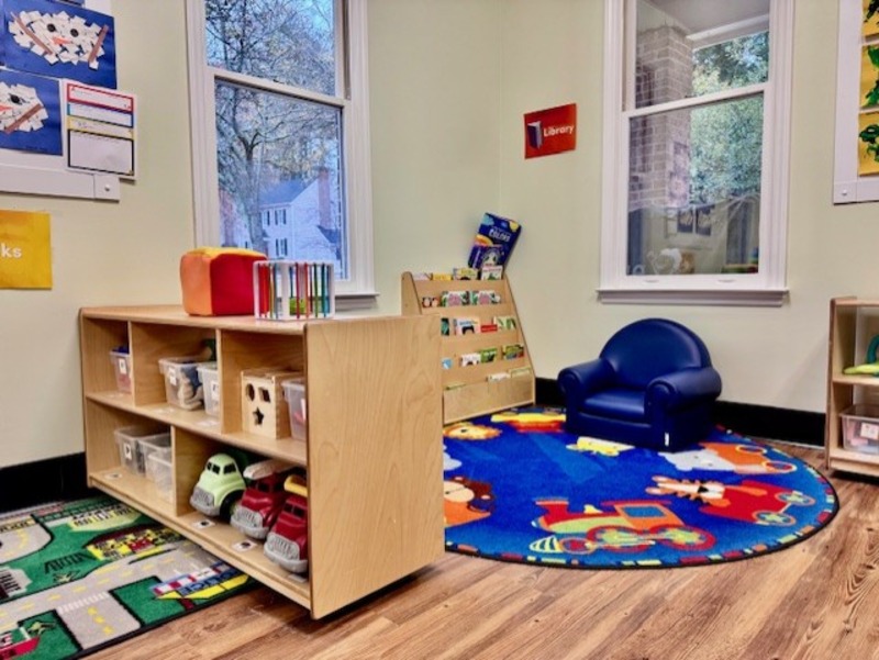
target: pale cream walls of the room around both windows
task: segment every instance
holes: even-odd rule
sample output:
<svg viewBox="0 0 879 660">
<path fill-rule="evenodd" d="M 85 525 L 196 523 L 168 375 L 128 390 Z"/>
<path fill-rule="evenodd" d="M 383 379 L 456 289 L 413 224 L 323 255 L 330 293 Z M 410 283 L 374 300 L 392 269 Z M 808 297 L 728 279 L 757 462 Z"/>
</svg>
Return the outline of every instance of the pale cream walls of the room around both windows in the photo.
<svg viewBox="0 0 879 660">
<path fill-rule="evenodd" d="M 704 337 L 724 400 L 822 411 L 827 301 L 877 295 L 879 243 L 877 204 L 831 204 L 836 3 L 797 0 L 791 297 L 780 309 L 596 301 L 602 4 L 369 0 L 379 311 L 399 312 L 401 271 L 463 264 L 482 212 L 496 211 L 525 227 L 510 276 L 537 376 L 664 315 Z M 192 245 L 182 3 L 113 9 L 120 86 L 141 99 L 142 174 L 118 204 L 0 194 L 0 208 L 52 214 L 55 269 L 53 291 L 0 291 L 0 467 L 82 450 L 80 306 L 179 300 L 177 264 Z M 569 102 L 577 150 L 525 161 L 522 114 Z"/>
</svg>

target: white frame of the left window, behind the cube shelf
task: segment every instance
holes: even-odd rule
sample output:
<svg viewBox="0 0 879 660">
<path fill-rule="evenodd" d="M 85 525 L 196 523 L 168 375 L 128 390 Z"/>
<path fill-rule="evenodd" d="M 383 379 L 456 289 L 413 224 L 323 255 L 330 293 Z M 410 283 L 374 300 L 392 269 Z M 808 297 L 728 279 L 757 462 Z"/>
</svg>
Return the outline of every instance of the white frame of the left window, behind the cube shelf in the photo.
<svg viewBox="0 0 879 660">
<path fill-rule="evenodd" d="M 349 57 L 337 54 L 337 80 L 345 80 L 346 89 L 338 97 L 302 91 L 303 98 L 320 100 L 343 108 L 343 178 L 345 209 L 348 222 L 348 280 L 335 283 L 336 309 L 343 311 L 371 303 L 376 295 L 372 245 L 372 182 L 369 145 L 369 87 L 367 59 L 366 2 L 335 0 L 345 3 L 345 11 L 336 11 L 341 26 L 346 31 Z M 254 85 L 254 79 L 222 71 L 204 61 L 204 1 L 187 0 L 187 32 L 189 59 L 190 127 L 192 131 L 192 201 L 194 209 L 194 240 L 197 246 L 219 245 L 220 216 L 216 132 L 214 127 L 214 81 L 241 79 Z M 342 22 L 344 21 L 344 24 Z M 257 87 L 270 89 L 265 80 Z"/>
</svg>

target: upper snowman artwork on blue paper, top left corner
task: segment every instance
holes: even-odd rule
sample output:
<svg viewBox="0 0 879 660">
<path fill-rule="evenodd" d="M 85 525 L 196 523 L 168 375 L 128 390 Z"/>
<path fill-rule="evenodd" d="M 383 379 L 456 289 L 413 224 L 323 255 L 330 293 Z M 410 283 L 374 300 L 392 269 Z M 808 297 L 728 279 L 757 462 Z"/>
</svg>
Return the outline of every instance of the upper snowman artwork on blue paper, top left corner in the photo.
<svg viewBox="0 0 879 660">
<path fill-rule="evenodd" d="M 113 18 L 49 0 L 0 0 L 0 64 L 9 69 L 116 87 Z"/>
</svg>

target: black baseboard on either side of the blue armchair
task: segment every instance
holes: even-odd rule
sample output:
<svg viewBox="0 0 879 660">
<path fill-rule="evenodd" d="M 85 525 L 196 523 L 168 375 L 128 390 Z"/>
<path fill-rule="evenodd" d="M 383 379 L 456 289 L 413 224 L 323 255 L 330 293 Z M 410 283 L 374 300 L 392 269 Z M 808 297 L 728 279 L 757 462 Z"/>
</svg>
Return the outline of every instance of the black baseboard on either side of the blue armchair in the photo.
<svg viewBox="0 0 879 660">
<path fill-rule="evenodd" d="M 552 378 L 536 379 L 537 401 L 543 405 L 564 405 L 558 383 Z M 824 445 L 824 413 L 719 401 L 714 404 L 714 421 L 744 436 L 771 438 L 822 447 Z"/>
</svg>

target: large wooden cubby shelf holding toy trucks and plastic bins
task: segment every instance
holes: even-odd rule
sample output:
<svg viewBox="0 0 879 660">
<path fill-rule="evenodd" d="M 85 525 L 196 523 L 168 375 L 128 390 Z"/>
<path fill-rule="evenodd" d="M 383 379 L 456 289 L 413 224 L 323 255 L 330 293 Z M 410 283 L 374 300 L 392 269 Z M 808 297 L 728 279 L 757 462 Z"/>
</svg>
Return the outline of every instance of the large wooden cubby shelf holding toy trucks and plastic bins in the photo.
<svg viewBox="0 0 879 660">
<path fill-rule="evenodd" d="M 166 401 L 158 359 L 216 345 L 219 416 Z M 110 351 L 127 345 L 131 393 Z M 80 312 L 88 480 L 192 539 L 321 618 L 436 560 L 444 550 L 439 327 L 416 316 L 274 322 L 189 316 L 178 306 Z M 307 439 L 243 430 L 241 372 L 282 366 L 305 374 Z M 114 429 L 171 432 L 173 502 L 125 470 Z M 234 447 L 307 468 L 309 572 L 288 573 L 262 544 L 192 508 L 205 460 Z"/>
</svg>

